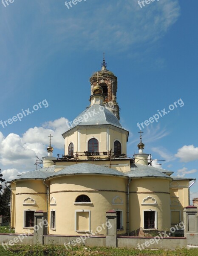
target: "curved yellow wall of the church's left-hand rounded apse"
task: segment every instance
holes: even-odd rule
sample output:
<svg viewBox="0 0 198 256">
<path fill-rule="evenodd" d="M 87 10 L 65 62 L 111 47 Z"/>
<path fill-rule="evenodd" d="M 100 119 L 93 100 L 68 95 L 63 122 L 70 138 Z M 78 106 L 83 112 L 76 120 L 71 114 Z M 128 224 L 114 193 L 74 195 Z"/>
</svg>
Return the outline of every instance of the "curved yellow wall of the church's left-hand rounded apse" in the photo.
<svg viewBox="0 0 198 256">
<path fill-rule="evenodd" d="M 24 228 L 25 210 L 47 211 L 46 187 L 41 180 L 23 180 L 17 181 L 16 184 L 15 211 L 17 214 L 15 231 L 16 233 L 33 233 L 34 228 Z"/>
</svg>

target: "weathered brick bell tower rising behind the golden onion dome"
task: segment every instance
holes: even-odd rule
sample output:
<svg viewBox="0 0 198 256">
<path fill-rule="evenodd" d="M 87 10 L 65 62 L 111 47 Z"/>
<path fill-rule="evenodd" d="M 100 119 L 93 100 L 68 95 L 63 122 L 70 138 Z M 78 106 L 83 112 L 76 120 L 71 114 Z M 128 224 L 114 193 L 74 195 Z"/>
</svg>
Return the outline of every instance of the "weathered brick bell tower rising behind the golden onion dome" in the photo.
<svg viewBox="0 0 198 256">
<path fill-rule="evenodd" d="M 104 105 L 108 108 L 118 119 L 119 117 L 119 105 L 116 101 L 117 93 L 117 77 L 112 72 L 107 70 L 107 63 L 105 62 L 105 55 L 103 62 L 101 63 L 102 70 L 95 72 L 90 78 L 91 82 L 91 95 L 93 94 L 93 87 L 98 83 L 102 86 L 104 96 Z"/>
</svg>

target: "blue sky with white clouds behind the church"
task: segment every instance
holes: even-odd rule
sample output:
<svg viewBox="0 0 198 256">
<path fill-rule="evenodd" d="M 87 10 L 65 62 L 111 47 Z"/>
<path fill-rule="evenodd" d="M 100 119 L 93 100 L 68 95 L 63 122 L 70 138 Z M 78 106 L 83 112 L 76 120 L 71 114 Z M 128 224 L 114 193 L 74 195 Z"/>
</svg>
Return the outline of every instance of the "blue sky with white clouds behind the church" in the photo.
<svg viewBox="0 0 198 256">
<path fill-rule="evenodd" d="M 143 8 L 137 0 L 82 0 L 70 9 L 63 0 L 0 4 L 0 120 L 48 102 L 21 122 L 0 125 L 4 177 L 35 169 L 50 132 L 54 156 L 63 152 L 65 120 L 89 105 L 89 78 L 105 52 L 118 77 L 121 123 L 130 131 L 127 154 L 137 151 L 137 122 L 182 99 L 183 107 L 142 129 L 144 151 L 166 160 L 158 163 L 175 175 L 198 178 L 197 13 L 197 0 Z M 198 180 L 191 192 L 198 197 Z"/>
</svg>

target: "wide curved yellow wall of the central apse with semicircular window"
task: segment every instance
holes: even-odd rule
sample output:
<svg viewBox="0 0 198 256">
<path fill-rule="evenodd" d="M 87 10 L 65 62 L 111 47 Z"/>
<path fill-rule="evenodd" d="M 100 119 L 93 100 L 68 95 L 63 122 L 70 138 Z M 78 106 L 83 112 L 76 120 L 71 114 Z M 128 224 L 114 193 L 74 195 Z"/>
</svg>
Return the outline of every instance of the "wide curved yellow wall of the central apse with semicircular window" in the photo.
<svg viewBox="0 0 198 256">
<path fill-rule="evenodd" d="M 50 211 L 56 210 L 56 230 L 50 229 L 50 234 L 82 234 L 82 232 L 75 231 L 75 210 L 90 211 L 91 230 L 96 232 L 97 227 L 105 224 L 105 215 L 110 209 L 123 211 L 124 229 L 118 233 L 125 233 L 126 184 L 127 179 L 99 175 L 66 176 L 52 179 L 50 198 L 55 198 L 56 205 L 50 205 Z M 79 195 L 88 195 L 92 204 L 74 204 Z M 105 228 L 98 233 L 105 235 Z"/>
</svg>

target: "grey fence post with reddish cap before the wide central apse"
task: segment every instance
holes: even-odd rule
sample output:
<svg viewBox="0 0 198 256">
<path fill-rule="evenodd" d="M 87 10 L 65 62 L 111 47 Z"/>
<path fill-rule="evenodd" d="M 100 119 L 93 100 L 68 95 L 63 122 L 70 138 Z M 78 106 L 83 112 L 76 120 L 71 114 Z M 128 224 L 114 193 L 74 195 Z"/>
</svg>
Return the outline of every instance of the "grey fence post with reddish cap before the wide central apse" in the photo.
<svg viewBox="0 0 198 256">
<path fill-rule="evenodd" d="M 117 212 L 106 212 L 106 246 L 117 247 Z"/>
</svg>

